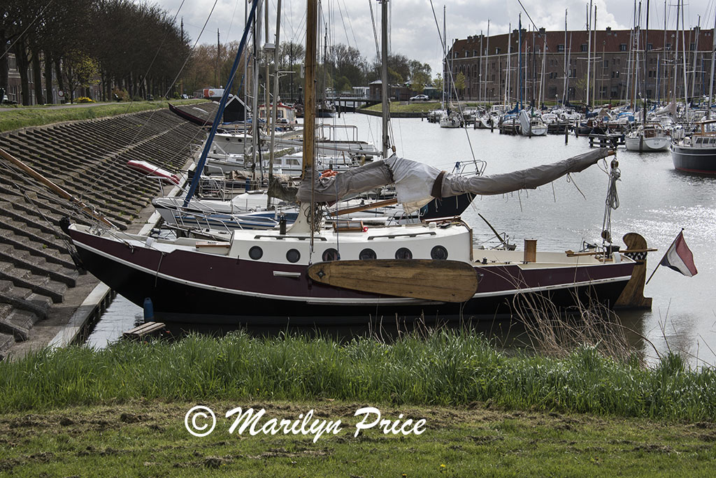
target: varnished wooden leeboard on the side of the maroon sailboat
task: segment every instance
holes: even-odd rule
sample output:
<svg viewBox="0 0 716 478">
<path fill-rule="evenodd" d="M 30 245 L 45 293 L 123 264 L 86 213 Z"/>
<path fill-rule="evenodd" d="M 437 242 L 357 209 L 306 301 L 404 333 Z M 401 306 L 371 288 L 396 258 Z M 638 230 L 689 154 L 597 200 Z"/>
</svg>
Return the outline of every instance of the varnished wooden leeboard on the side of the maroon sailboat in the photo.
<svg viewBox="0 0 716 478">
<path fill-rule="evenodd" d="M 334 260 L 311 265 L 309 277 L 353 291 L 441 302 L 465 302 L 478 291 L 475 268 L 457 260 Z"/>
</svg>

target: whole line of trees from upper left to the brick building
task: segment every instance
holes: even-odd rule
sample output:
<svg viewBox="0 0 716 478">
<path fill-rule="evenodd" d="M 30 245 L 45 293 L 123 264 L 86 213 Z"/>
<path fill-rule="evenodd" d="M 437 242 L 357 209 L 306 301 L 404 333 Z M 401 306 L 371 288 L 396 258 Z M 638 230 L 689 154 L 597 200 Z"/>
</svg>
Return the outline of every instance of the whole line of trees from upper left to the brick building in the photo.
<svg viewBox="0 0 716 478">
<path fill-rule="evenodd" d="M 203 44 L 192 52 L 177 19 L 158 5 L 133 0 L 4 0 L 0 49 L 0 88 L 9 85 L 10 52 L 20 74 L 22 104 L 30 104 L 32 88 L 35 101 L 43 104 L 52 102 L 53 82 L 70 101 L 75 90 L 92 84 L 99 85 L 102 100 L 117 99 L 115 95 L 173 97 L 181 91 L 191 94 L 219 87 L 227 82 L 238 42 Z M 369 62 L 354 47 L 336 44 L 324 52 L 319 59 L 319 92 L 346 92 L 380 78 L 379 59 Z M 276 66 L 273 54 L 259 52 L 260 84 L 269 62 L 271 74 L 282 72 L 280 96 L 301 97 L 304 53 L 302 44 L 281 43 Z M 391 84 L 410 84 L 422 92 L 434 82 L 428 64 L 402 54 L 390 55 L 388 63 Z M 234 92 L 248 83 L 243 68 L 238 74 Z M 42 77 L 52 81 L 43 84 Z"/>
</svg>

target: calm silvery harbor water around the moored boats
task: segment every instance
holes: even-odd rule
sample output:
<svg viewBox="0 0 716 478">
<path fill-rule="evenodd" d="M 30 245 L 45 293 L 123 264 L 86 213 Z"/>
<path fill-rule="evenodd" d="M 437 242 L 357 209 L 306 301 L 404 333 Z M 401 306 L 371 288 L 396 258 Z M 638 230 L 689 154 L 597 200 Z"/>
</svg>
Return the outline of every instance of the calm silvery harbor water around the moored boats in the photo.
<svg viewBox="0 0 716 478">
<path fill-rule="evenodd" d="M 326 121 L 357 125 L 361 139 L 380 143 L 379 117 L 343 114 Z M 487 175 L 555 162 L 589 150 L 588 140 L 574 135 L 565 145 L 563 136 L 527 138 L 499 135 L 496 130 L 452 130 L 420 119 L 393 120 L 392 137 L 399 155 L 448 171 L 455 162 L 472 160 L 471 144 L 475 157 L 488 163 Z M 611 214 L 615 243 L 634 231 L 643 235 L 650 247 L 659 248 L 658 253 L 649 255 L 647 273 L 651 273 L 684 228 L 699 270 L 687 278 L 659 268 L 645 292 L 654 298 L 652 311 L 629 311 L 620 316 L 659 353 L 671 348 L 690 357 L 692 364 L 716 364 L 716 177 L 677 172 L 669 152 L 639 154 L 621 147 L 616 158 L 621 181 L 617 186 L 619 208 Z M 561 178 L 538 190 L 478 197 L 463 218 L 475 228 L 476 238 L 486 240 L 491 235 L 478 217 L 481 213 L 498 231 L 508 233 L 518 248 L 524 238 L 536 238 L 541 250 L 579 250 L 583 240 L 601 242 L 607 180 L 604 168 L 593 166 L 572 175 L 571 180 Z M 118 296 L 89 337 L 89 344 L 105 346 L 116 340 L 141 312 Z M 652 346 L 643 347 L 647 357 L 656 356 Z"/>
</svg>

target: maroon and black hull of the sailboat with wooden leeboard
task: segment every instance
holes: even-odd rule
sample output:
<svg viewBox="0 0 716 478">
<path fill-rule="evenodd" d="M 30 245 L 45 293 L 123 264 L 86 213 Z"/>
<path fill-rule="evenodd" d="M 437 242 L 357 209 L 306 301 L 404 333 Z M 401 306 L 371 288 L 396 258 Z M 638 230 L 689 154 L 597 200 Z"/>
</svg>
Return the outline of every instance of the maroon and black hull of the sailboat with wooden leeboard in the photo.
<svg viewBox="0 0 716 478">
<path fill-rule="evenodd" d="M 161 255 L 155 250 L 129 248 L 74 231 L 71 235 L 87 270 L 138 306 L 151 298 L 155 320 L 167 323 L 338 326 L 380 318 L 483 320 L 509 316 L 516 298 L 524 298 L 526 303 L 548 298 L 561 309 L 590 301 L 609 306 L 626 286 L 633 268 L 633 263 L 624 263 L 606 268 L 598 265 L 591 270 L 566 267 L 516 275 L 516 265 L 476 267 L 480 274 L 478 296 L 466 303 L 438 303 L 372 296 L 311 283 L 305 266 L 291 266 L 301 271 L 300 278 L 274 278 L 276 265 L 270 263 L 189 252 Z M 96 249 L 84 247 L 81 241 L 85 240 Z M 185 272 L 178 273 L 180 269 Z M 507 275 L 511 278 L 505 279 Z M 579 277 L 581 285 L 570 285 L 568 277 Z M 543 290 L 524 292 L 515 288 L 516 280 L 524 281 L 531 290 Z M 480 296 L 480 288 L 484 296 Z"/>
</svg>

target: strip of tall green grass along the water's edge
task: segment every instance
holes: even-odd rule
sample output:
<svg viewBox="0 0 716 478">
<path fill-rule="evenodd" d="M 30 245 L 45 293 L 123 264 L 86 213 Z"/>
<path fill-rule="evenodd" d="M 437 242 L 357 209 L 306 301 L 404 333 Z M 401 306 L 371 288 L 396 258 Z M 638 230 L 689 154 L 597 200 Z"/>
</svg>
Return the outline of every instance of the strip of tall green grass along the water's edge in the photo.
<svg viewBox="0 0 716 478">
<path fill-rule="evenodd" d="M 104 350 L 45 350 L 0 363 L 0 411 L 135 399 L 337 399 L 715 421 L 716 371 L 669 355 L 654 369 L 581 348 L 562 359 L 506 356 L 482 336 L 440 331 L 387 344 L 369 338 L 189 336 Z"/>
</svg>

